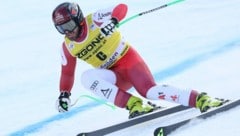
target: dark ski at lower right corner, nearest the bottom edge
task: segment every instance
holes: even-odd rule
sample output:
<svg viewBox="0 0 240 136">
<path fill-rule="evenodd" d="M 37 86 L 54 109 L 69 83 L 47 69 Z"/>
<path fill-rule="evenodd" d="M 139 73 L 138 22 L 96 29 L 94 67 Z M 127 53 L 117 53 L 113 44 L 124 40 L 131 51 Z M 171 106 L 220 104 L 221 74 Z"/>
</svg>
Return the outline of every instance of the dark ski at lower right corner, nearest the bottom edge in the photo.
<svg viewBox="0 0 240 136">
<path fill-rule="evenodd" d="M 156 128 L 154 130 L 154 136 L 167 136 L 170 133 L 172 133 L 173 131 L 175 131 L 176 129 L 180 128 L 181 126 L 184 126 L 185 124 L 189 123 L 192 120 L 195 119 L 206 119 L 208 117 L 211 117 L 213 115 L 216 115 L 218 113 L 230 110 L 236 106 L 240 105 L 240 99 L 238 100 L 234 100 L 234 101 L 229 101 L 227 103 L 225 103 L 224 105 L 217 107 L 217 108 L 212 108 L 207 112 L 204 112 L 200 115 L 194 116 L 192 118 L 171 124 L 171 125 L 167 125 L 167 126 L 162 126 L 159 128 Z"/>
</svg>

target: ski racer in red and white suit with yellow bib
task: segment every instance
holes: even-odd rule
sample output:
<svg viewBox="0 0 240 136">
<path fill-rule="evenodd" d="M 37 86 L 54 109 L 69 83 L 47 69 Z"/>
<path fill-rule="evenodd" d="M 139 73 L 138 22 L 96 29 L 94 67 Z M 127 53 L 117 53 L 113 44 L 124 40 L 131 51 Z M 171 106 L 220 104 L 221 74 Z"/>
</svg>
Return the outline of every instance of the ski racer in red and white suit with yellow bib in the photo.
<svg viewBox="0 0 240 136">
<path fill-rule="evenodd" d="M 181 89 L 171 85 L 158 85 L 138 52 L 117 29 L 128 11 L 126 4 L 101 9 L 84 17 L 76 3 L 58 5 L 52 20 L 63 35 L 61 48 L 62 70 L 56 107 L 66 112 L 71 105 L 76 61 L 80 59 L 93 66 L 82 73 L 82 85 L 92 93 L 129 110 L 129 118 L 151 112 L 152 106 L 128 92 L 131 87 L 146 99 L 166 100 L 199 108 L 202 112 L 222 105 L 222 101 L 206 93 Z"/>
</svg>

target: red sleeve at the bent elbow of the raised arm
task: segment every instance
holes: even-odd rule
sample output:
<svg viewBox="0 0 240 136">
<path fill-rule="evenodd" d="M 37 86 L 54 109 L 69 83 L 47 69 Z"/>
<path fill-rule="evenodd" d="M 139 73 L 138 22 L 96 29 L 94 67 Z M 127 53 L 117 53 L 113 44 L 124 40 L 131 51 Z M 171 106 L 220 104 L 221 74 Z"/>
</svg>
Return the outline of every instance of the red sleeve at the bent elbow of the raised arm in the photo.
<svg viewBox="0 0 240 136">
<path fill-rule="evenodd" d="M 126 4 L 118 4 L 112 12 L 112 17 L 121 21 L 127 15 L 128 7 Z"/>
</svg>

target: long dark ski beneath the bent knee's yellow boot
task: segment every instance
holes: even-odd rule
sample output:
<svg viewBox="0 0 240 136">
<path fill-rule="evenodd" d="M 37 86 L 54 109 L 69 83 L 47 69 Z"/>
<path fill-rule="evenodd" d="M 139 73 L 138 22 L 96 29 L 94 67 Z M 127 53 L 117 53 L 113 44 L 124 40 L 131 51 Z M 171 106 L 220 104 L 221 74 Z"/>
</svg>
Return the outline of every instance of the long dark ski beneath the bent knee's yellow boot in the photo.
<svg viewBox="0 0 240 136">
<path fill-rule="evenodd" d="M 187 109 L 190 109 L 190 107 L 177 105 L 177 106 L 174 106 L 171 108 L 166 108 L 164 110 L 159 110 L 159 111 L 157 110 L 157 111 L 154 111 L 151 113 L 147 113 L 147 114 L 132 118 L 128 121 L 125 121 L 125 122 L 122 122 L 119 124 L 115 124 L 112 126 L 108 126 L 105 128 L 101 128 L 101 129 L 94 130 L 91 132 L 79 133 L 79 134 L 77 134 L 77 136 L 103 136 L 103 135 L 110 134 L 112 132 L 119 131 L 119 130 L 127 128 L 127 127 L 131 127 L 131 126 L 143 123 L 143 122 L 147 122 L 147 121 L 150 121 L 150 120 L 162 117 L 162 116 L 166 116 L 166 115 L 176 113 L 179 111 L 183 111 L 183 110 L 187 110 Z"/>
</svg>

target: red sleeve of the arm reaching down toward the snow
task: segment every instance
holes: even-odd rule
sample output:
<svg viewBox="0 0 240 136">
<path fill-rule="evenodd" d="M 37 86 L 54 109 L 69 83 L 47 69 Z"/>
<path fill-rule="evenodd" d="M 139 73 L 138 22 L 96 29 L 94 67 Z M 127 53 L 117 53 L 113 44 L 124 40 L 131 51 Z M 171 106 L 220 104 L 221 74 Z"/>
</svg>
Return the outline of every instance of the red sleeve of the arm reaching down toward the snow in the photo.
<svg viewBox="0 0 240 136">
<path fill-rule="evenodd" d="M 65 43 L 62 46 L 62 70 L 60 76 L 60 91 L 71 92 L 74 83 L 76 57 L 73 57 L 67 50 Z"/>
</svg>

